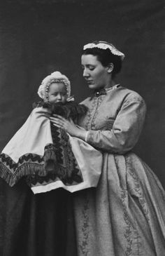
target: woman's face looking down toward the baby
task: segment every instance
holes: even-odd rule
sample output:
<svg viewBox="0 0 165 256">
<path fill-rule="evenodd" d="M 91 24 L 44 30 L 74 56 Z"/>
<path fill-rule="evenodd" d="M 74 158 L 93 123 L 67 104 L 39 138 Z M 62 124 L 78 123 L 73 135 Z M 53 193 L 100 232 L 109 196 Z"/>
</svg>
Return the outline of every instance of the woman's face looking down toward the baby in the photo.
<svg viewBox="0 0 165 256">
<path fill-rule="evenodd" d="M 88 83 L 89 88 L 99 89 L 108 87 L 110 84 L 110 73 L 108 67 L 103 67 L 101 62 L 94 55 L 82 55 L 81 64 L 83 76 Z"/>
</svg>

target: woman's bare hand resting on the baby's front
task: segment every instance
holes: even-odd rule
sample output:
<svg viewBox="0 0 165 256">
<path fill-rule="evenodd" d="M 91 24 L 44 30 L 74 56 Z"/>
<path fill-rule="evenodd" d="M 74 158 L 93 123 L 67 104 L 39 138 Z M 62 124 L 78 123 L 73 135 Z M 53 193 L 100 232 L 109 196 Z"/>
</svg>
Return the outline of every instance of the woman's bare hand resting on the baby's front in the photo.
<svg viewBox="0 0 165 256">
<path fill-rule="evenodd" d="M 66 120 L 64 117 L 59 116 L 57 114 L 54 114 L 50 117 L 50 121 L 52 121 L 54 126 L 57 126 L 58 128 L 62 128 L 67 133 L 69 133 L 71 136 L 79 137 L 80 129 L 73 123 L 73 121 Z"/>
</svg>

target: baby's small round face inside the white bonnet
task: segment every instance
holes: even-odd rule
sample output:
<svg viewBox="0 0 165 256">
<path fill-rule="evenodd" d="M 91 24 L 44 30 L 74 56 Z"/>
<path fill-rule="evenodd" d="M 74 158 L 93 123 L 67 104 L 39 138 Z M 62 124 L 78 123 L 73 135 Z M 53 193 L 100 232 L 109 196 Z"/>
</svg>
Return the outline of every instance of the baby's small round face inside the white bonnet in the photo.
<svg viewBox="0 0 165 256">
<path fill-rule="evenodd" d="M 48 91 L 48 100 L 50 104 L 57 102 L 65 103 L 67 98 L 66 86 L 64 83 L 51 83 Z"/>
</svg>

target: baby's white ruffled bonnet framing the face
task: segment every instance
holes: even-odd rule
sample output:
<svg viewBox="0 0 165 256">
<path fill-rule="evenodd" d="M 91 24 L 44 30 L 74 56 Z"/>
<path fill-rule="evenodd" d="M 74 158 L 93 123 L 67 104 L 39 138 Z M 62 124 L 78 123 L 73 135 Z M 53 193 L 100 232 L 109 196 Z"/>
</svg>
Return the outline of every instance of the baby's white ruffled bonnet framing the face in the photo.
<svg viewBox="0 0 165 256">
<path fill-rule="evenodd" d="M 69 79 L 59 71 L 53 72 L 43 79 L 41 86 L 38 88 L 38 95 L 44 102 L 48 102 L 48 91 L 52 83 L 64 83 L 66 86 L 67 101 L 71 97 L 71 83 Z"/>
</svg>

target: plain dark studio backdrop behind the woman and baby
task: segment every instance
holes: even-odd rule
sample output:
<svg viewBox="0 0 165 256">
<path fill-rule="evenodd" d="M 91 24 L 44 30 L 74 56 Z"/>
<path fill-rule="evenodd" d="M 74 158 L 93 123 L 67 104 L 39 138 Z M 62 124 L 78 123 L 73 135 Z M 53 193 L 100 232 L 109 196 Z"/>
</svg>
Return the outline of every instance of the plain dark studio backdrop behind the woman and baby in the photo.
<svg viewBox="0 0 165 256">
<path fill-rule="evenodd" d="M 126 58 L 117 82 L 140 93 L 148 107 L 135 151 L 165 187 L 164 1 L 20 0 L 0 4 L 0 150 L 38 100 L 41 80 L 59 70 L 78 102 L 89 95 L 80 50 L 106 40 Z"/>
</svg>

